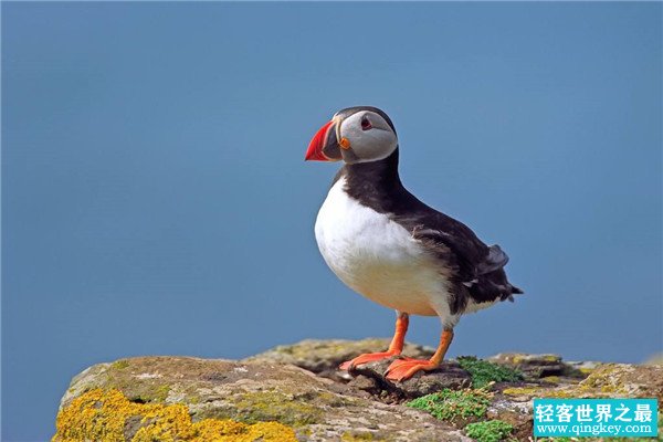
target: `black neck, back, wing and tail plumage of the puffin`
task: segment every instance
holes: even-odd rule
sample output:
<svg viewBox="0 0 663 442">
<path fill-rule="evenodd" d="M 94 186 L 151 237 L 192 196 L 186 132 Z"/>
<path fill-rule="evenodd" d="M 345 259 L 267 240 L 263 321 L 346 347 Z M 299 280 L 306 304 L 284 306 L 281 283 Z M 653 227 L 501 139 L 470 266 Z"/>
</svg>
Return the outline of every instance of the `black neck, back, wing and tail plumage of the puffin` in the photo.
<svg viewBox="0 0 663 442">
<path fill-rule="evenodd" d="M 346 164 L 334 181 L 345 177 L 344 190 L 349 197 L 402 225 L 439 259 L 441 269 L 452 271 L 452 314 L 462 313 L 470 299 L 477 304 L 513 301 L 513 294 L 523 293 L 509 284 L 504 272 L 508 256 L 498 245 L 484 244 L 465 224 L 427 206 L 403 187 L 398 157 L 397 148 L 382 160 Z"/>
</svg>

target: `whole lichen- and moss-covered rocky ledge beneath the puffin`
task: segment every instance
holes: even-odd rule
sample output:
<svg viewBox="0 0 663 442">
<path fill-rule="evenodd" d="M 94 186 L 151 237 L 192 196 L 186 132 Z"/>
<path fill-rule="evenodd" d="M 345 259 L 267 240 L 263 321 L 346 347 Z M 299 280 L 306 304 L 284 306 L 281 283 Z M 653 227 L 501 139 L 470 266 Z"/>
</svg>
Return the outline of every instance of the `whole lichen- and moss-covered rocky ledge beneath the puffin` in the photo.
<svg viewBox="0 0 663 442">
<path fill-rule="evenodd" d="M 527 441 L 532 398 L 646 397 L 659 398 L 661 409 L 661 365 L 503 354 L 460 357 L 396 383 L 382 376 L 390 360 L 337 370 L 388 344 L 305 340 L 244 360 L 99 364 L 72 380 L 53 442 Z M 403 354 L 428 357 L 432 349 L 407 345 Z"/>
</svg>

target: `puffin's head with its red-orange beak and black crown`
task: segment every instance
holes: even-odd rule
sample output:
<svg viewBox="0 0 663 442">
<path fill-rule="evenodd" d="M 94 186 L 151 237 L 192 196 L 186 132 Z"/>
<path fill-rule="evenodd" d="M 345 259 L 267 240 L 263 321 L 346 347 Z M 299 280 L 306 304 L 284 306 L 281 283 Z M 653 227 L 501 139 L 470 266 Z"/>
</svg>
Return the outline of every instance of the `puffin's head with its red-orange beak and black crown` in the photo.
<svg viewBox="0 0 663 442">
<path fill-rule="evenodd" d="M 338 110 L 313 137 L 306 160 L 348 165 L 385 159 L 398 147 L 389 116 L 377 107 L 357 106 Z"/>
</svg>

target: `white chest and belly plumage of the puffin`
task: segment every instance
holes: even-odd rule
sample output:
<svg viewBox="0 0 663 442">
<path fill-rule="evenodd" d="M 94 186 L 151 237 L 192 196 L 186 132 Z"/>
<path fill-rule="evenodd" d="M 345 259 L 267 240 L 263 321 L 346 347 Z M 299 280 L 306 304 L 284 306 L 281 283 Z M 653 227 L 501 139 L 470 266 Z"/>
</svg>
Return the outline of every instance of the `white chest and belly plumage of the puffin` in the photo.
<svg viewBox="0 0 663 442">
<path fill-rule="evenodd" d="M 364 296 L 401 312 L 435 315 L 445 296 L 444 277 L 410 232 L 386 214 L 360 204 L 339 179 L 315 223 L 327 265 Z"/>
</svg>

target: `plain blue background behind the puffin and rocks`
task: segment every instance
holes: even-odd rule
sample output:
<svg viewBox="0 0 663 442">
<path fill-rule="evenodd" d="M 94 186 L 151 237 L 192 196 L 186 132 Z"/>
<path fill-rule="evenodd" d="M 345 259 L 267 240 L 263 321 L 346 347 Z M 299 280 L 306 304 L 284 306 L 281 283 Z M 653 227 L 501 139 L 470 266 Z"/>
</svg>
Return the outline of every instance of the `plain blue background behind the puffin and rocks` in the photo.
<svg viewBox="0 0 663 442">
<path fill-rule="evenodd" d="M 389 336 L 315 244 L 338 166 L 303 161 L 360 104 L 527 293 L 464 317 L 451 356 L 661 351 L 661 12 L 2 2 L 2 440 L 52 435 L 96 362 Z"/>
</svg>

